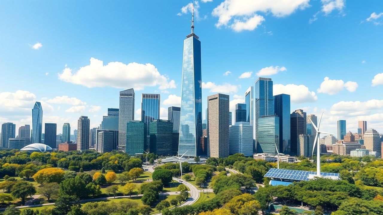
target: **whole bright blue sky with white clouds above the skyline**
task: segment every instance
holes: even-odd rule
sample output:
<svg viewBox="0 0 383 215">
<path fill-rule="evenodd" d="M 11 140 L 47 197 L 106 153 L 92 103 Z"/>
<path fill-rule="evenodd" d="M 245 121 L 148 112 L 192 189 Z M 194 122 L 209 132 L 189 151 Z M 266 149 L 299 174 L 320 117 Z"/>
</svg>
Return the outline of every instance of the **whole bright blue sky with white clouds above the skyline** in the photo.
<svg viewBox="0 0 383 215">
<path fill-rule="evenodd" d="M 31 124 L 41 101 L 43 122 L 58 132 L 64 122 L 73 132 L 82 115 L 95 127 L 132 87 L 137 112 L 141 93 L 160 93 L 167 119 L 180 103 L 190 3 L 0 1 L 0 123 Z M 328 132 L 345 119 L 347 130 L 367 120 L 383 133 L 380 0 L 203 0 L 195 12 L 203 109 L 225 93 L 233 110 L 260 75 L 275 94 L 291 94 L 292 111 L 324 111 Z"/>
</svg>

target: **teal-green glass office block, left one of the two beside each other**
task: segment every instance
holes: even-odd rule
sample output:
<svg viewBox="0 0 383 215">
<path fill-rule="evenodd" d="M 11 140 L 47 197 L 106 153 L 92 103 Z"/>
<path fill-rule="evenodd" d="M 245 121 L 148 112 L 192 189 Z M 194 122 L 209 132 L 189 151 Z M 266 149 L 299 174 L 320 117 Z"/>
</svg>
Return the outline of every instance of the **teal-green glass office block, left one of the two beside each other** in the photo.
<svg viewBox="0 0 383 215">
<path fill-rule="evenodd" d="M 142 121 L 130 121 L 126 124 L 126 153 L 135 156 L 147 150 L 147 125 Z"/>
</svg>

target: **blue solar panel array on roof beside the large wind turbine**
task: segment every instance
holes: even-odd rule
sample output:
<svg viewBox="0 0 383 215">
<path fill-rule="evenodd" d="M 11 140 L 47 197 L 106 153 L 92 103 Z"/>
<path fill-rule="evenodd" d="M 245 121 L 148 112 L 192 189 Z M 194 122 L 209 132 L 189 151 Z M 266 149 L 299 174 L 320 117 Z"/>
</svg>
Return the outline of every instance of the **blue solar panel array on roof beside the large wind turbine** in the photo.
<svg viewBox="0 0 383 215">
<path fill-rule="evenodd" d="M 291 169 L 270 169 L 264 177 L 280 178 L 293 181 L 308 181 L 309 174 L 316 174 L 316 172 L 291 170 Z M 321 173 L 321 176 L 337 176 L 339 173 Z"/>
</svg>

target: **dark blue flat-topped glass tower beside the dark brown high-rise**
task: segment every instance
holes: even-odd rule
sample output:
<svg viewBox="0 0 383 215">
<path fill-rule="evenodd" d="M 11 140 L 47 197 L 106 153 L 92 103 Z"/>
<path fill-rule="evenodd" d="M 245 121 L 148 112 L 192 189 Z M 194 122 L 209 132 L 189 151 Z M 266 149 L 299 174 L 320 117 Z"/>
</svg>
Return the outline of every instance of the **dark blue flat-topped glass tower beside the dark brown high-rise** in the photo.
<svg viewBox="0 0 383 215">
<path fill-rule="evenodd" d="M 279 148 L 278 151 L 290 154 L 290 95 L 274 96 L 274 113 L 279 117 Z"/>
</svg>

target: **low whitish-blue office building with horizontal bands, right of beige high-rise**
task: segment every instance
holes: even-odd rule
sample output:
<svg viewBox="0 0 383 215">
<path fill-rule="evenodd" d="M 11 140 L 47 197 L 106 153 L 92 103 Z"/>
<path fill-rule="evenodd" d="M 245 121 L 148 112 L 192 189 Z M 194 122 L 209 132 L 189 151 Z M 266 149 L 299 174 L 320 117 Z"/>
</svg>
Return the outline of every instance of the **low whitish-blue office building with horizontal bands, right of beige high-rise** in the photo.
<svg viewBox="0 0 383 215">
<path fill-rule="evenodd" d="M 229 127 L 229 154 L 253 156 L 253 126 L 249 122 L 236 122 Z"/>
</svg>

